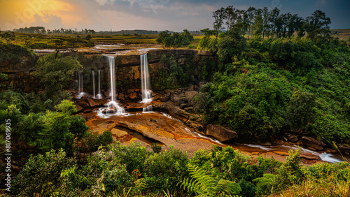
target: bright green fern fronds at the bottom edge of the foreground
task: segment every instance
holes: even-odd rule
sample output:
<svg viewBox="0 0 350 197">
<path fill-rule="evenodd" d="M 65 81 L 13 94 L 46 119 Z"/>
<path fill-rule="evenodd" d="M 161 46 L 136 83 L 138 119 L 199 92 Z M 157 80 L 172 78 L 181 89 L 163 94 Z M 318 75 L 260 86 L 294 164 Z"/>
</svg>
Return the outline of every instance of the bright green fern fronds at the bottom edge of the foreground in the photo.
<svg viewBox="0 0 350 197">
<path fill-rule="evenodd" d="M 195 192 L 198 196 L 235 196 L 241 192 L 241 187 L 235 182 L 211 177 L 207 172 L 188 164 L 190 177 L 180 178 L 180 184 L 188 191 Z"/>
</svg>

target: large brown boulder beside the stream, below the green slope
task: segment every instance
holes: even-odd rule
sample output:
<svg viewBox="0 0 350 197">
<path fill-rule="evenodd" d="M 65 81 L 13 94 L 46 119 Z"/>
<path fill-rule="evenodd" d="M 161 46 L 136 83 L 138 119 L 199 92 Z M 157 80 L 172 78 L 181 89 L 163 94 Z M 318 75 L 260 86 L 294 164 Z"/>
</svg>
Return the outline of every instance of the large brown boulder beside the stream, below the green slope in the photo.
<svg viewBox="0 0 350 197">
<path fill-rule="evenodd" d="M 207 125 L 207 135 L 213 136 L 221 142 L 225 142 L 236 138 L 237 133 L 235 131 L 225 129 L 223 126 L 209 124 Z"/>
</svg>

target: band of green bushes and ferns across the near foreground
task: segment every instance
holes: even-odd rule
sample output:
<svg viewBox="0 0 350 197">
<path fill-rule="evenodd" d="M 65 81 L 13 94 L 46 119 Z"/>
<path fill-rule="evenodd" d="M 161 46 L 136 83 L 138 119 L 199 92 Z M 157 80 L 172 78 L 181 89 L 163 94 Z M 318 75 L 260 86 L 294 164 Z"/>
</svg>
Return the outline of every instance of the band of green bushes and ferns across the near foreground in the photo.
<svg viewBox="0 0 350 197">
<path fill-rule="evenodd" d="M 62 150 L 31 156 L 14 191 L 19 196 L 144 196 L 169 191 L 176 196 L 297 196 L 309 185 L 304 191 L 311 196 L 329 194 L 325 187 L 337 194 L 349 192 L 349 163 L 301 166 L 298 151 L 290 151 L 281 163 L 262 156 L 256 161 L 232 147 L 199 149 L 191 159 L 172 146 L 159 154 L 134 143 L 108 149 L 111 154 L 100 148 L 83 164 Z"/>
</svg>

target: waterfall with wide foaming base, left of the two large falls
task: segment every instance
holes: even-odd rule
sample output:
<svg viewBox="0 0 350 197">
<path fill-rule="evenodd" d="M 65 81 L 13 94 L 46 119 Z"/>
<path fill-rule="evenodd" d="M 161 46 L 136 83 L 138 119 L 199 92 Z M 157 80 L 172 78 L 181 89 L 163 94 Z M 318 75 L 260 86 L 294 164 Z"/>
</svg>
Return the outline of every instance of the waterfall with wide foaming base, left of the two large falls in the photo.
<svg viewBox="0 0 350 197">
<path fill-rule="evenodd" d="M 115 57 L 107 56 L 109 62 L 109 73 L 111 80 L 111 101 L 106 104 L 106 108 L 99 110 L 100 117 L 110 117 L 111 115 L 125 115 L 124 108 L 120 107 L 116 101 L 116 60 Z"/>
</svg>

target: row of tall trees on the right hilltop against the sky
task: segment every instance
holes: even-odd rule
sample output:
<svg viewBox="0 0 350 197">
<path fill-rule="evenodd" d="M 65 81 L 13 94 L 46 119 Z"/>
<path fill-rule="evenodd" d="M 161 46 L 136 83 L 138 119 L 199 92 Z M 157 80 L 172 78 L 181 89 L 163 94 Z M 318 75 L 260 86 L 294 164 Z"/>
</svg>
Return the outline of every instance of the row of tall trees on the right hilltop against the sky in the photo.
<svg viewBox="0 0 350 197">
<path fill-rule="evenodd" d="M 261 36 L 286 38 L 296 32 L 298 37 L 307 36 L 314 38 L 317 35 L 330 34 L 330 18 L 321 10 L 316 10 L 311 16 L 299 17 L 297 14 L 281 13 L 279 8 L 269 10 L 265 8 L 250 7 L 247 10 L 239 10 L 233 6 L 220 8 L 213 13 L 215 19 L 214 30 L 204 29 L 212 35 L 220 34 L 226 30 L 235 34 L 248 34 L 249 38 Z"/>
</svg>

